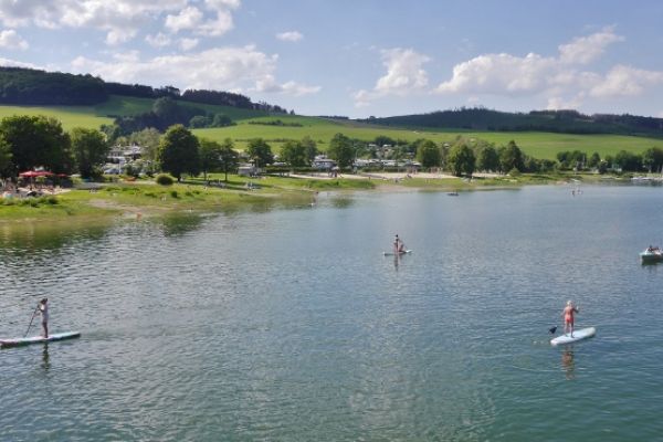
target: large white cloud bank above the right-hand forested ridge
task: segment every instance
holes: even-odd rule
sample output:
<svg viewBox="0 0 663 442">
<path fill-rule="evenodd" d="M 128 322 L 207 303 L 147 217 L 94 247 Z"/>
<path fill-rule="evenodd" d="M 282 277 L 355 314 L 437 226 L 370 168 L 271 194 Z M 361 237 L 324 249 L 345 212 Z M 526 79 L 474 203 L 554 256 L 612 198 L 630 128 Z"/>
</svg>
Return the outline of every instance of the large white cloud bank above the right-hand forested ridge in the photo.
<svg viewBox="0 0 663 442">
<path fill-rule="evenodd" d="M 606 49 L 623 41 L 607 28 L 558 46 L 557 56 L 484 54 L 453 69 L 450 80 L 435 88 L 441 94 L 490 94 L 539 96 L 548 108 L 578 108 L 588 97 L 610 98 L 641 95 L 663 84 L 663 72 L 617 65 L 607 74 L 587 70 Z"/>
</svg>

